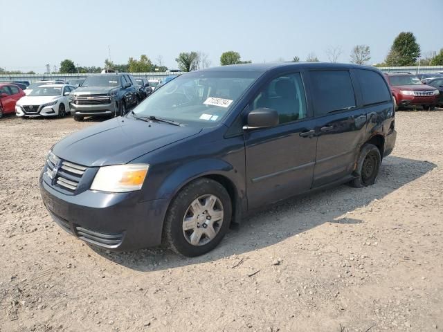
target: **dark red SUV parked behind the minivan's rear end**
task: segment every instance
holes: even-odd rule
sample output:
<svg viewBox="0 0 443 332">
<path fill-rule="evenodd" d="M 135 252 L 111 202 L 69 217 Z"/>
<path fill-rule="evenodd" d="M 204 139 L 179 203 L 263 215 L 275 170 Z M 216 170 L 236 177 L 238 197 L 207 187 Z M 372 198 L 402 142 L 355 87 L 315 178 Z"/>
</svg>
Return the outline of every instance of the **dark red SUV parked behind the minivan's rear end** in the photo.
<svg viewBox="0 0 443 332">
<path fill-rule="evenodd" d="M 439 91 L 423 84 L 417 76 L 410 73 L 385 73 L 385 76 L 396 108 L 421 106 L 431 110 L 437 105 Z"/>
</svg>

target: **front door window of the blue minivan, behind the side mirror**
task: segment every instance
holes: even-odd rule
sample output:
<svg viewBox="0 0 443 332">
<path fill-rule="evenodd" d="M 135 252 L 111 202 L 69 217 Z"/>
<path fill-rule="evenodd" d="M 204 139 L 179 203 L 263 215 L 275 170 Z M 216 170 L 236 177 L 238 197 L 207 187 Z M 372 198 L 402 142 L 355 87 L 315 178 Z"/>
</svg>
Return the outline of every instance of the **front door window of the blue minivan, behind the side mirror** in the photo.
<svg viewBox="0 0 443 332">
<path fill-rule="evenodd" d="M 253 101 L 253 109 L 275 109 L 280 124 L 307 117 L 305 88 L 300 73 L 283 75 L 266 84 Z"/>
</svg>

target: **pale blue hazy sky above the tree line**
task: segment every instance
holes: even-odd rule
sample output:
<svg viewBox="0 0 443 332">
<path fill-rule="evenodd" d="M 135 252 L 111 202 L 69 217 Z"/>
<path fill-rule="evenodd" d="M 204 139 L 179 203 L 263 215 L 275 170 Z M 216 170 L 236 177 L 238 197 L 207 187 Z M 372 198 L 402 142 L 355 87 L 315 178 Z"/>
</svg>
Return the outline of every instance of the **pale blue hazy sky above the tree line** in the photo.
<svg viewBox="0 0 443 332">
<path fill-rule="evenodd" d="M 443 48 L 443 0 L 0 0 L 0 67 L 44 73 L 45 64 L 72 59 L 80 66 L 116 64 L 145 54 L 177 68 L 181 52 L 201 51 L 211 66 L 237 51 L 252 62 L 304 61 L 326 50 L 370 46 L 382 62 L 401 31 L 417 37 L 422 53 Z"/>
</svg>

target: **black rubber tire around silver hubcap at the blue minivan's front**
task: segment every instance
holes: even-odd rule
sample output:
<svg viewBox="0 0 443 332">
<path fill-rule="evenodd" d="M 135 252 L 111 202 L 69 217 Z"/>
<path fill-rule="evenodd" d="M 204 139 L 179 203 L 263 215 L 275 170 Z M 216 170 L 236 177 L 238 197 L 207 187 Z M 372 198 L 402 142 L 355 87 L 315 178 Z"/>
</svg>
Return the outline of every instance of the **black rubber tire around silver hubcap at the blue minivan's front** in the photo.
<svg viewBox="0 0 443 332">
<path fill-rule="evenodd" d="M 191 203 L 195 202 L 197 199 L 210 196 L 219 199 L 219 203 L 221 203 L 221 212 L 223 213 L 223 217 L 220 219 L 221 223 L 217 228 L 217 232 L 213 239 L 205 239 L 205 233 L 199 237 L 199 242 L 206 240 L 208 242 L 202 244 L 191 244 L 190 239 L 187 239 L 187 234 L 185 234 L 186 230 L 183 230 L 183 221 L 190 212 Z M 217 203 L 217 204 L 219 204 Z M 208 205 L 203 205 L 202 208 L 205 208 Z M 215 206 L 215 205 L 214 205 Z M 210 214 L 208 214 L 208 210 L 206 210 L 207 216 L 203 216 L 203 218 L 210 220 Z M 193 216 L 194 217 L 194 216 Z M 195 257 L 206 254 L 210 250 L 213 250 L 223 239 L 224 235 L 228 231 L 230 220 L 232 217 L 232 205 L 230 201 L 230 196 L 226 189 L 218 183 L 217 181 L 213 181 L 210 178 L 199 178 L 195 181 L 192 181 L 175 196 L 168 208 L 168 212 L 165 216 L 165 223 L 163 225 L 163 239 L 171 250 L 177 252 L 179 255 L 187 256 L 187 257 Z M 204 220 L 204 219 L 203 219 Z M 210 221 L 208 221 L 210 222 Z M 201 223 L 201 231 L 204 232 L 206 230 L 206 226 L 204 227 L 204 223 Z M 215 223 L 214 223 L 215 225 Z M 217 226 L 214 226 L 213 230 L 215 230 Z M 199 228 L 199 223 L 197 223 L 197 228 Z M 189 230 L 193 232 L 193 230 Z"/>
</svg>

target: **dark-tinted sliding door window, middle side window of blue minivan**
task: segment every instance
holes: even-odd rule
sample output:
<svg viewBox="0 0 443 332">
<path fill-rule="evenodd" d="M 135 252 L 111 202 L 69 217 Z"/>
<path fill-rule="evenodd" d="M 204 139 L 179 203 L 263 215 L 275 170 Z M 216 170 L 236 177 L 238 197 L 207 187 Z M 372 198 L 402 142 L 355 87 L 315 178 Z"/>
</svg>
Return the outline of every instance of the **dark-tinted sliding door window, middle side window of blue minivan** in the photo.
<svg viewBox="0 0 443 332">
<path fill-rule="evenodd" d="M 349 71 L 311 71 L 311 81 L 316 116 L 355 107 Z"/>
</svg>

